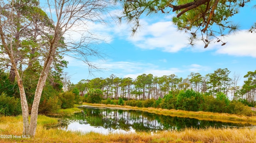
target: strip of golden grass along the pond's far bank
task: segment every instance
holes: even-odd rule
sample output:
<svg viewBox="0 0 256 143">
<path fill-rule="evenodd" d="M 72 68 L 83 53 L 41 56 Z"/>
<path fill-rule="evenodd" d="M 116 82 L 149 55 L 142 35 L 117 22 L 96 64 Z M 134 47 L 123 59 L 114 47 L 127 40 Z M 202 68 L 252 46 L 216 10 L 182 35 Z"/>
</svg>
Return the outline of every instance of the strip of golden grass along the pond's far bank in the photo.
<svg viewBox="0 0 256 143">
<path fill-rule="evenodd" d="M 203 112 L 203 111 L 184 111 L 184 110 L 174 110 L 174 109 L 161 109 L 161 108 L 153 108 L 153 107 L 131 107 L 131 106 L 120 106 L 120 105 L 105 105 L 105 104 L 92 104 L 92 103 L 84 103 L 84 105 L 97 106 L 97 107 L 116 107 L 116 108 L 126 108 L 133 110 L 146 111 L 150 113 L 157 113 L 161 115 L 170 115 L 177 117 L 188 117 L 195 118 L 199 120 L 208 120 L 208 121 L 222 121 L 222 122 L 230 122 L 230 123 L 251 123 L 256 125 L 256 116 L 248 117 L 244 115 L 235 115 L 228 113 L 212 113 L 212 112 Z"/>
</svg>

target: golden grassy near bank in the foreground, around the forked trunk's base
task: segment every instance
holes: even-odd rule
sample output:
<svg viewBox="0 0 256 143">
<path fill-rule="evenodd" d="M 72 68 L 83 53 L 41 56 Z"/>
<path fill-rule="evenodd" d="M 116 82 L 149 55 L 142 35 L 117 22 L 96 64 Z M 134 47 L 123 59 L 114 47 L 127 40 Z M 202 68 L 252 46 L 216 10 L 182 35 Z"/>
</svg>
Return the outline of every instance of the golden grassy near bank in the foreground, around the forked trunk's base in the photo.
<svg viewBox="0 0 256 143">
<path fill-rule="evenodd" d="M 44 125 L 54 124 L 57 119 L 38 116 L 36 136 L 29 139 L 3 139 L 1 143 L 255 143 L 256 130 L 240 129 L 185 129 L 183 131 L 160 131 L 157 133 L 109 134 L 45 129 Z M 22 117 L 0 117 L 0 135 L 22 135 Z"/>
</svg>

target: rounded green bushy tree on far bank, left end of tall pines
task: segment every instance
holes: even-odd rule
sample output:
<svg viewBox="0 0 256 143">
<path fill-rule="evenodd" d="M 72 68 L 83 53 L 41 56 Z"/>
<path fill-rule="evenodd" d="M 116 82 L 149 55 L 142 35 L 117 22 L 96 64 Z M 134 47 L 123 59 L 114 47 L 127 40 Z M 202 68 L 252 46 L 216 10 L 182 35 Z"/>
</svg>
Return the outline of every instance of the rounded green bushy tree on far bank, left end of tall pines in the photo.
<svg viewBox="0 0 256 143">
<path fill-rule="evenodd" d="M 89 89 L 87 93 L 87 102 L 88 103 L 100 103 L 102 100 L 103 93 L 101 89 Z"/>
</svg>

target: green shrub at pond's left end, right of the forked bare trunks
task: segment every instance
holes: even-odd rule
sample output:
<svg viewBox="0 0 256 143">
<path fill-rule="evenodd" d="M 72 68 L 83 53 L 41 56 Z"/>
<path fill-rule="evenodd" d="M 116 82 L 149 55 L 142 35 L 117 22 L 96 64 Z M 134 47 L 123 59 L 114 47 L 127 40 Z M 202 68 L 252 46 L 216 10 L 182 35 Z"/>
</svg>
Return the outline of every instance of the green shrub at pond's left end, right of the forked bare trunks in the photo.
<svg viewBox="0 0 256 143">
<path fill-rule="evenodd" d="M 67 108 L 72 108 L 74 107 L 74 99 L 75 99 L 75 94 L 71 91 L 61 93 L 59 95 L 59 99 L 61 101 L 61 108 L 67 109 Z"/>
</svg>

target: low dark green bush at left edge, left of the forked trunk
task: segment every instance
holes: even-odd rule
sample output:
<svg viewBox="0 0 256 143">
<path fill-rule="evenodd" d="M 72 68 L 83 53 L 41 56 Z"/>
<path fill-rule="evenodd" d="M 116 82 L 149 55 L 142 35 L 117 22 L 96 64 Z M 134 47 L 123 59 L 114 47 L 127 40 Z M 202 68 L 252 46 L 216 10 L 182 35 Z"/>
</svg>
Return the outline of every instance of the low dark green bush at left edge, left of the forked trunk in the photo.
<svg viewBox="0 0 256 143">
<path fill-rule="evenodd" d="M 19 115 L 21 114 L 20 100 L 15 97 L 8 97 L 5 93 L 0 95 L 0 114 Z"/>
</svg>

